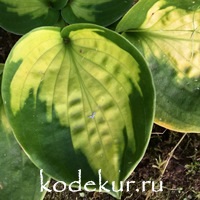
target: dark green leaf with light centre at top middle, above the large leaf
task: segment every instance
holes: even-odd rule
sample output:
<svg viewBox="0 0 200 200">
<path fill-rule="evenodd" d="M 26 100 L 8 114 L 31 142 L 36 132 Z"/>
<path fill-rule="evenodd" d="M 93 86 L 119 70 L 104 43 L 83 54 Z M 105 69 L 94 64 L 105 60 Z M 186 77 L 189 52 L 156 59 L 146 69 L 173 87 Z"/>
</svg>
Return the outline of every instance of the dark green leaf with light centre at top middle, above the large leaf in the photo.
<svg viewBox="0 0 200 200">
<path fill-rule="evenodd" d="M 133 0 L 73 0 L 62 9 L 69 24 L 89 22 L 108 26 L 117 21 L 133 5 Z"/>
</svg>

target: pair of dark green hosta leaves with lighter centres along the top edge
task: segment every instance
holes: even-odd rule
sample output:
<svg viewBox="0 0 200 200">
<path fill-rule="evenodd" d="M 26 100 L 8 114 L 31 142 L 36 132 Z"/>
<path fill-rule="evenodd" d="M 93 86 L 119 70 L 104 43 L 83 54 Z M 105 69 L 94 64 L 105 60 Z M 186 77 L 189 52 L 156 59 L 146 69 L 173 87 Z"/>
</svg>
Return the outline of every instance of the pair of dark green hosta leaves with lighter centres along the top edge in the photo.
<svg viewBox="0 0 200 200">
<path fill-rule="evenodd" d="M 17 34 L 67 23 L 108 26 L 132 5 L 132 0 L 0 0 L 0 26 Z"/>
</svg>

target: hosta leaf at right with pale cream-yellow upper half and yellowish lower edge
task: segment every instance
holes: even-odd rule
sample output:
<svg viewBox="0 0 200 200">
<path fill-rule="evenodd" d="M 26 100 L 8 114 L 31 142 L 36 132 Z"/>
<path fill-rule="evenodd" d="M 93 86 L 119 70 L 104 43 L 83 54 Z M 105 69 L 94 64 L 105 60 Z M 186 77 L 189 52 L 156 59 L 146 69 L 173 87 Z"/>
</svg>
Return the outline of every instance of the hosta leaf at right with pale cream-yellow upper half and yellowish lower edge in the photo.
<svg viewBox="0 0 200 200">
<path fill-rule="evenodd" d="M 200 0 L 140 0 L 117 26 L 149 62 L 155 122 L 181 132 L 200 132 L 199 5 Z"/>
</svg>

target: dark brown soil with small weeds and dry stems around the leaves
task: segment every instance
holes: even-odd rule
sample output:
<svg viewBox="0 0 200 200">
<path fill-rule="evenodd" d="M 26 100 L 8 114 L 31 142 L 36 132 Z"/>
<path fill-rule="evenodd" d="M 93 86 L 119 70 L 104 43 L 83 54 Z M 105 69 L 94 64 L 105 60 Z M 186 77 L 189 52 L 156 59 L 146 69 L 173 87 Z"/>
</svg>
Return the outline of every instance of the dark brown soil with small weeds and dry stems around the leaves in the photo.
<svg viewBox="0 0 200 200">
<path fill-rule="evenodd" d="M 5 63 L 8 53 L 20 36 L 0 29 L 0 63 Z M 154 125 L 148 149 L 140 164 L 132 172 L 129 181 L 136 181 L 129 192 L 124 191 L 123 200 L 196 200 L 200 199 L 200 134 L 187 134 L 171 154 L 166 170 L 165 164 L 170 152 L 183 137 L 183 133 L 166 130 Z M 163 173 L 164 172 L 164 173 Z M 163 173 L 163 175 L 162 175 Z M 162 175 L 162 176 L 161 176 Z M 142 181 L 163 181 L 162 192 L 142 192 L 136 188 Z M 55 181 L 51 181 L 51 186 Z M 141 188 L 141 186 L 140 186 Z M 77 192 L 47 193 L 44 200 L 115 200 L 105 193 Z"/>
</svg>

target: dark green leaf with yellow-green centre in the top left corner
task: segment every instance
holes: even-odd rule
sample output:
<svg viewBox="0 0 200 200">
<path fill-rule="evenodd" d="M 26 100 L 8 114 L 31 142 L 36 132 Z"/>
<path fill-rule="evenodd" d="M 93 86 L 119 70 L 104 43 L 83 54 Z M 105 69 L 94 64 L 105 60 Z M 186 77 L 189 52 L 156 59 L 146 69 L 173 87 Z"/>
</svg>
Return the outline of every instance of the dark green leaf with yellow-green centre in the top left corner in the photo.
<svg viewBox="0 0 200 200">
<path fill-rule="evenodd" d="M 67 0 L 0 0 L 0 26 L 24 34 L 39 26 L 54 25 Z"/>
</svg>

